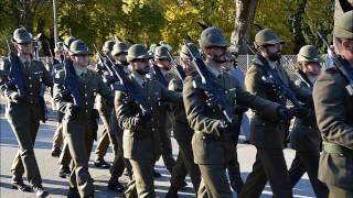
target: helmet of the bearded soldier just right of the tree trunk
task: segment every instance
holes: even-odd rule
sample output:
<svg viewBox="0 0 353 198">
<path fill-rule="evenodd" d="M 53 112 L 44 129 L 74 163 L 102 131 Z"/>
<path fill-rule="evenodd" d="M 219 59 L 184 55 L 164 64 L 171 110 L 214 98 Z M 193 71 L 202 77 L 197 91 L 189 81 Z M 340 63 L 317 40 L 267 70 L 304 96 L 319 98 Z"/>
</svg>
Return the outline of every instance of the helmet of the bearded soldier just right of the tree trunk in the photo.
<svg viewBox="0 0 353 198">
<path fill-rule="evenodd" d="M 264 29 L 255 35 L 254 45 L 256 47 L 277 43 L 284 43 L 284 41 L 270 29 Z"/>
</svg>

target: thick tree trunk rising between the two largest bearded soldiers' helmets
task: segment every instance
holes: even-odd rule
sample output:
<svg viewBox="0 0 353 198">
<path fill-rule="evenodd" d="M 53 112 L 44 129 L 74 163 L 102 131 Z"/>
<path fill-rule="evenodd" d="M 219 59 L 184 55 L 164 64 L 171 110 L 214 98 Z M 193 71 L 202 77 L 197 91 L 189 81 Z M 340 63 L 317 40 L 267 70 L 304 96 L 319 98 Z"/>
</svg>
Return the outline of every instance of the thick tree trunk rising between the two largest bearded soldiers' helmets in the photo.
<svg viewBox="0 0 353 198">
<path fill-rule="evenodd" d="M 234 0 L 236 7 L 234 31 L 231 42 L 238 54 L 248 54 L 246 44 L 250 40 L 252 25 L 258 0 Z"/>
</svg>

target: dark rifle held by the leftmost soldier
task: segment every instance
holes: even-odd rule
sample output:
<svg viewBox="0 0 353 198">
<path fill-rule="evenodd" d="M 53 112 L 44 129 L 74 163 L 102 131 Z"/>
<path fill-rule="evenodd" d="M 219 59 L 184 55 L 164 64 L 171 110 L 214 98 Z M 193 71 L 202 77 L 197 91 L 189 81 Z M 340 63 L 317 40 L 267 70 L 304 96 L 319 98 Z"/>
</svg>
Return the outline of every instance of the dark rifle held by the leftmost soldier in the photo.
<svg viewBox="0 0 353 198">
<path fill-rule="evenodd" d="M 6 87 L 15 86 L 18 89 L 19 97 L 26 97 L 26 89 L 24 86 L 23 67 L 21 66 L 20 58 L 11 53 L 9 41 L 7 41 L 9 54 L 8 58 L 10 62 L 10 70 L 0 70 L 1 76 L 7 76 L 9 81 L 4 82 Z"/>
</svg>

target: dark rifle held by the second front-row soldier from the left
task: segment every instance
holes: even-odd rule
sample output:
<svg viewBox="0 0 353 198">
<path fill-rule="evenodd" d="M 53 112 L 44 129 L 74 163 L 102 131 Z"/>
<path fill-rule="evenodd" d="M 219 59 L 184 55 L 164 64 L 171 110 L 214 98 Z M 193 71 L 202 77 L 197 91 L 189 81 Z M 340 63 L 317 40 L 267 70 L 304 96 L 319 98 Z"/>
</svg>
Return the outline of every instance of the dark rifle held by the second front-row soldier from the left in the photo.
<svg viewBox="0 0 353 198">
<path fill-rule="evenodd" d="M 54 84 L 60 84 L 65 86 L 65 90 L 61 95 L 71 95 L 74 100 L 74 106 L 84 107 L 84 99 L 79 90 L 77 75 L 75 73 L 72 61 L 66 59 L 64 55 L 61 55 L 61 63 L 63 64 L 65 78 L 61 80 L 54 78 Z"/>
</svg>

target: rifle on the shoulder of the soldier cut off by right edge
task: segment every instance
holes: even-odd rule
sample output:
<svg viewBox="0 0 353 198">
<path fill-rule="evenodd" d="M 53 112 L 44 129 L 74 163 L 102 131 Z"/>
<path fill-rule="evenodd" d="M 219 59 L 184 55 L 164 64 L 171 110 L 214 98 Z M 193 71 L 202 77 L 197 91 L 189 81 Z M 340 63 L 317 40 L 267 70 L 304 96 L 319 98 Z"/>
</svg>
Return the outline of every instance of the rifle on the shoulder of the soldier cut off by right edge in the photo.
<svg viewBox="0 0 353 198">
<path fill-rule="evenodd" d="M 347 62 L 345 62 L 342 57 L 340 57 L 332 51 L 329 43 L 323 38 L 322 34 L 319 31 L 317 33 L 320 40 L 323 42 L 323 44 L 328 47 L 328 51 L 332 53 L 332 61 L 335 65 L 335 68 L 338 68 L 339 72 L 343 75 L 343 77 L 349 81 L 349 85 L 345 86 L 346 91 L 350 96 L 353 96 L 353 72 L 351 70 Z"/>
</svg>

